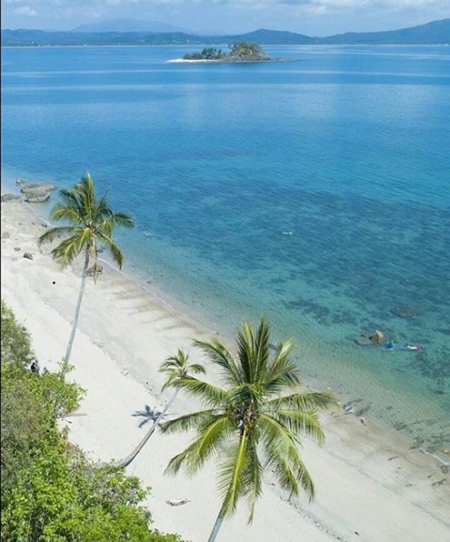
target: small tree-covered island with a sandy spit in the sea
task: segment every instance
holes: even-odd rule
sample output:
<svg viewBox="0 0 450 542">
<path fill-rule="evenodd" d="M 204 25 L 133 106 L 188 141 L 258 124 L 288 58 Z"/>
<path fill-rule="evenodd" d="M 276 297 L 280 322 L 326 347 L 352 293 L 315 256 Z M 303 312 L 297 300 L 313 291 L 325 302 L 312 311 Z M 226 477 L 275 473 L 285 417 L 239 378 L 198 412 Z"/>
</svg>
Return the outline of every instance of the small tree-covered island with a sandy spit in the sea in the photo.
<svg viewBox="0 0 450 542">
<path fill-rule="evenodd" d="M 261 45 L 253 42 L 235 42 L 229 53 L 216 47 L 205 47 L 201 53 L 190 53 L 169 62 L 280 62 L 284 58 L 271 58 Z"/>
</svg>

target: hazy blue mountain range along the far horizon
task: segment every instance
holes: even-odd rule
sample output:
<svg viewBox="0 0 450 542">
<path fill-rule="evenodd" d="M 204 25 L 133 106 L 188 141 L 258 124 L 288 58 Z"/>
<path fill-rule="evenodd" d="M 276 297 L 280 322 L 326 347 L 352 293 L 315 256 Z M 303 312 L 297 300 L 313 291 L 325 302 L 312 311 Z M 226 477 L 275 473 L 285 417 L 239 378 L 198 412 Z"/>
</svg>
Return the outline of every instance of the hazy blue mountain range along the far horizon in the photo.
<svg viewBox="0 0 450 542">
<path fill-rule="evenodd" d="M 426 25 L 412 26 L 386 32 L 348 32 L 326 37 L 310 37 L 279 30 L 255 30 L 241 35 L 195 35 L 175 31 L 174 26 L 159 21 L 147 22 L 154 30 L 117 31 L 114 21 L 104 24 L 81 25 L 73 31 L 50 32 L 46 30 L 2 30 L 2 46 L 46 45 L 228 45 L 235 41 L 251 41 L 260 45 L 450 45 L 450 19 L 432 21 Z M 128 20 L 128 25 L 130 21 Z M 115 26 L 114 26 L 115 25 Z M 159 30 L 155 30 L 159 26 Z M 109 28 L 93 30 L 93 28 Z M 135 28 L 135 26 L 132 26 Z M 165 28 L 169 28 L 168 32 Z M 163 30 L 161 30 L 163 28 Z"/>
</svg>

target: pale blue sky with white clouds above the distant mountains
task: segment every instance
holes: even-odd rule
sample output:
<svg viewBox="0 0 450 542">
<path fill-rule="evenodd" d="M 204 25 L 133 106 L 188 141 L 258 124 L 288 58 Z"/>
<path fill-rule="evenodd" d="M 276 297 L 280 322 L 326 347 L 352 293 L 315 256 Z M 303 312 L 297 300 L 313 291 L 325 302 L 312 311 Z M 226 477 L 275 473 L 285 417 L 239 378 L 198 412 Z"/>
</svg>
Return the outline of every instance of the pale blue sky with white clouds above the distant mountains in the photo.
<svg viewBox="0 0 450 542">
<path fill-rule="evenodd" d="M 396 30 L 450 17 L 450 0 L 1 0 L 2 28 L 72 30 L 135 18 L 197 34 L 259 28 L 309 36 Z"/>
</svg>

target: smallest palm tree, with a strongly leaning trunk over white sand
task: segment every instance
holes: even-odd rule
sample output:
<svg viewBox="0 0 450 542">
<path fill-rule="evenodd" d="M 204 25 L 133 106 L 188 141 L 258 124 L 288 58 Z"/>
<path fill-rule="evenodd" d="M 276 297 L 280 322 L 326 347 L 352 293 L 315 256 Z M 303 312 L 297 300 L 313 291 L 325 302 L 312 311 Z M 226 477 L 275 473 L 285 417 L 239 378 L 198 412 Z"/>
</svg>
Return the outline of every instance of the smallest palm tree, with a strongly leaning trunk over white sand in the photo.
<svg viewBox="0 0 450 542">
<path fill-rule="evenodd" d="M 166 387 L 175 387 L 175 393 L 167 401 L 163 410 L 158 414 L 157 417 L 155 417 L 152 427 L 150 427 L 150 429 L 146 432 L 141 442 L 135 447 L 131 454 L 125 457 L 125 459 L 121 462 L 123 467 L 128 467 L 128 465 L 130 465 L 137 454 L 145 446 L 146 441 L 155 433 L 155 429 L 158 427 L 159 422 L 163 419 L 163 417 L 165 417 L 167 410 L 171 407 L 178 396 L 178 392 L 180 390 L 178 387 L 178 382 L 183 378 L 187 378 L 190 373 L 205 374 L 204 366 L 195 363 L 189 364 L 188 358 L 189 356 L 185 354 L 183 350 L 178 348 L 178 353 L 175 356 L 167 357 L 165 362 L 161 365 L 159 372 L 167 373 L 169 376 L 165 381 L 165 385 L 161 388 L 161 391 L 164 391 Z"/>
</svg>

